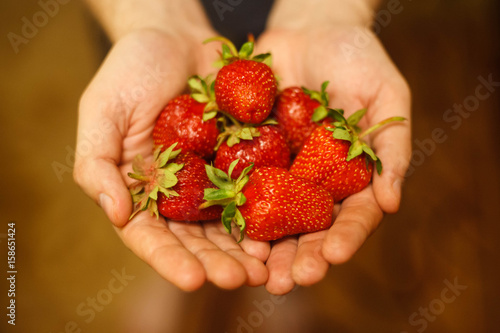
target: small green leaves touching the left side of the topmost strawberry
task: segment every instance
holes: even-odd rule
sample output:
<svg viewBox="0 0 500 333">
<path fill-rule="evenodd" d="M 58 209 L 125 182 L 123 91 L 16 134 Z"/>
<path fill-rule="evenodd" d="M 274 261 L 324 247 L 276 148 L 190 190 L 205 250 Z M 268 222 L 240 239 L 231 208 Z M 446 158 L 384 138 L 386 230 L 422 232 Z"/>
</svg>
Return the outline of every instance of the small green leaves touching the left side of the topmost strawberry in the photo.
<svg viewBox="0 0 500 333">
<path fill-rule="evenodd" d="M 217 116 L 219 107 L 215 101 L 215 81 L 210 76 L 205 79 L 198 75 L 193 75 L 188 79 L 188 86 L 191 90 L 191 97 L 198 103 L 205 104 L 203 110 L 203 121 L 208 121 Z"/>
</svg>

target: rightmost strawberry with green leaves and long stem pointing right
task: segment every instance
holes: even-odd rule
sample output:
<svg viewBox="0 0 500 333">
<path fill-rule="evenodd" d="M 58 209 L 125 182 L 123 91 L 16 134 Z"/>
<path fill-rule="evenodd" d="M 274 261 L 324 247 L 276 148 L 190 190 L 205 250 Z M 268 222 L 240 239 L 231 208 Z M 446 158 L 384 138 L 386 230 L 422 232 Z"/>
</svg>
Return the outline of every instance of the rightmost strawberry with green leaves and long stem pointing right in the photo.
<svg viewBox="0 0 500 333">
<path fill-rule="evenodd" d="M 330 110 L 329 114 L 337 121 L 315 129 L 290 168 L 290 173 L 324 187 L 335 202 L 365 188 L 370 183 L 374 163 L 377 172 L 382 172 L 380 159 L 362 137 L 389 122 L 404 120 L 392 117 L 360 133 L 357 123 L 366 109 L 348 119 L 342 113 Z"/>
</svg>

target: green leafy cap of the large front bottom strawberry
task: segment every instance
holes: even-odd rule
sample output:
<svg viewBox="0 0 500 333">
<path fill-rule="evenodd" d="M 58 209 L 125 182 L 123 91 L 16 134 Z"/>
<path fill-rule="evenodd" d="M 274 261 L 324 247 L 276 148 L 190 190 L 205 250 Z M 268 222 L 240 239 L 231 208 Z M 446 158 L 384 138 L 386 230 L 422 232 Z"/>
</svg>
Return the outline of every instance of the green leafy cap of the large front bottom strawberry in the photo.
<svg viewBox="0 0 500 333">
<path fill-rule="evenodd" d="M 205 165 L 208 178 L 217 188 L 205 189 L 203 199 L 206 201 L 199 208 L 204 209 L 215 205 L 224 207 L 221 215 L 222 225 L 229 234 L 232 232 L 233 223 L 239 228 L 239 243 L 243 240 L 246 223 L 238 207 L 244 205 L 247 200 L 242 190 L 248 183 L 248 173 L 252 170 L 253 163 L 241 172 L 238 179 L 233 179 L 231 178 L 231 174 L 238 161 L 239 159 L 231 163 L 228 173 L 211 165 Z"/>
</svg>

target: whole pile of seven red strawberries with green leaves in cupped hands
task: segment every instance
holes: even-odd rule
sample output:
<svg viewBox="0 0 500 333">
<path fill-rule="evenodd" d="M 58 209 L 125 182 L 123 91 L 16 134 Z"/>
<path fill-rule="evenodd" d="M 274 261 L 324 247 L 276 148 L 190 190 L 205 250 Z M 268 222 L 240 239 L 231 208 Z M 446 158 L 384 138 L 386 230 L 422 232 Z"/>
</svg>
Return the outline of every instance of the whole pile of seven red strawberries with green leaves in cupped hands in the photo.
<svg viewBox="0 0 500 333">
<path fill-rule="evenodd" d="M 255 240 L 327 229 L 333 205 L 361 191 L 380 160 L 361 139 L 366 112 L 347 119 L 321 91 L 278 91 L 270 54 L 252 57 L 223 37 L 213 82 L 188 80 L 191 94 L 171 100 L 153 129 L 153 163 L 137 156 L 130 185 L 134 213 L 175 221 L 221 219 Z M 207 42 L 208 42 L 207 41 Z M 293 158 L 295 157 L 295 158 Z M 293 162 L 293 163 L 292 163 Z"/>
</svg>

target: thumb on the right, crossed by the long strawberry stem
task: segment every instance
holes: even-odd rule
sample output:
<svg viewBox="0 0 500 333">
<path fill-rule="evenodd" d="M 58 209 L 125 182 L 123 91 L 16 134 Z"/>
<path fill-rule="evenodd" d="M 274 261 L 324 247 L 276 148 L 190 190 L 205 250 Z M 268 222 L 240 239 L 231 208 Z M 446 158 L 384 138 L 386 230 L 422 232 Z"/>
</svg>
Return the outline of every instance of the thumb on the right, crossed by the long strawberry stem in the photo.
<svg viewBox="0 0 500 333">
<path fill-rule="evenodd" d="M 399 78 L 399 77 L 398 77 Z M 387 213 L 395 213 L 401 201 L 401 187 L 411 159 L 410 91 L 403 79 L 381 89 L 370 105 L 371 125 L 401 116 L 407 120 L 387 125 L 371 136 L 373 148 L 382 161 L 381 175 L 373 177 L 375 197 Z"/>
</svg>

